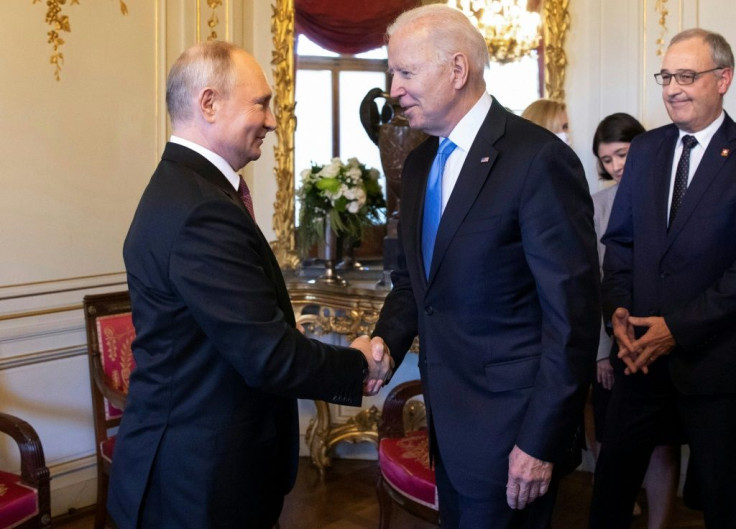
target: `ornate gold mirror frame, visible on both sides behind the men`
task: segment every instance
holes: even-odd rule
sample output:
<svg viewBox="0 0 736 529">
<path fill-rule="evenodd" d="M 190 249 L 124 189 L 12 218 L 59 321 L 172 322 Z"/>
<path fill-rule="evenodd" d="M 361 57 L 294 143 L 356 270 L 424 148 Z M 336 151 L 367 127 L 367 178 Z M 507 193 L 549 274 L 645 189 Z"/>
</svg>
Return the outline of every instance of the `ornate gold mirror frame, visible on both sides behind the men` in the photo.
<svg viewBox="0 0 736 529">
<path fill-rule="evenodd" d="M 551 99 L 565 99 L 565 37 L 570 27 L 570 0 L 543 0 L 544 92 Z M 283 268 L 299 265 L 294 237 L 294 0 L 275 0 L 272 6 L 274 115 L 276 116 L 276 201 L 273 251 Z"/>
</svg>

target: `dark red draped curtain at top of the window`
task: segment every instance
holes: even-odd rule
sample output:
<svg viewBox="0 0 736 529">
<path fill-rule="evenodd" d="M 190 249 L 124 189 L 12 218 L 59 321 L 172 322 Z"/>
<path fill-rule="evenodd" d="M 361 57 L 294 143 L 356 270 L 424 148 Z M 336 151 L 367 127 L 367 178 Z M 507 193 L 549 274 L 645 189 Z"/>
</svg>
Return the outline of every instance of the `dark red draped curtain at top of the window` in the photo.
<svg viewBox="0 0 736 529">
<path fill-rule="evenodd" d="M 296 31 L 337 53 L 383 46 L 386 27 L 421 0 L 295 0 Z"/>
</svg>

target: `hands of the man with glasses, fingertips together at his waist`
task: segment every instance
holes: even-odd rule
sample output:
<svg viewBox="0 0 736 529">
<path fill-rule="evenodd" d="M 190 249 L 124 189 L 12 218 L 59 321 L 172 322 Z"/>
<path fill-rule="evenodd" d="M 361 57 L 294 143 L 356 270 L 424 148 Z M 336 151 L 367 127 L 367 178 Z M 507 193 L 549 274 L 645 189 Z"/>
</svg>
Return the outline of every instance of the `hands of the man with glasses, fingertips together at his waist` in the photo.
<svg viewBox="0 0 736 529">
<path fill-rule="evenodd" d="M 618 357 L 626 363 L 626 374 L 641 370 L 649 373 L 649 366 L 662 355 L 670 354 L 675 339 L 661 316 L 639 318 L 619 307 L 611 318 L 613 335 L 618 343 Z M 635 327 L 646 327 L 647 331 L 637 340 Z"/>
</svg>

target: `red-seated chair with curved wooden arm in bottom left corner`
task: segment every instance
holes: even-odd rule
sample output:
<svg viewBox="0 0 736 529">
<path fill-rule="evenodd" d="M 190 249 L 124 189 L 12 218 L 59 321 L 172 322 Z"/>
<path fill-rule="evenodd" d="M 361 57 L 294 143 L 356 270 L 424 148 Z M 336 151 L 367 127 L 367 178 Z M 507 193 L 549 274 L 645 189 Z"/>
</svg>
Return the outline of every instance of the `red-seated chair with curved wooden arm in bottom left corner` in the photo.
<svg viewBox="0 0 736 529">
<path fill-rule="evenodd" d="M 20 450 L 20 475 L 0 471 L 0 527 L 51 527 L 49 469 L 36 430 L 22 419 L 0 413 L 0 432 L 12 437 Z"/>
</svg>

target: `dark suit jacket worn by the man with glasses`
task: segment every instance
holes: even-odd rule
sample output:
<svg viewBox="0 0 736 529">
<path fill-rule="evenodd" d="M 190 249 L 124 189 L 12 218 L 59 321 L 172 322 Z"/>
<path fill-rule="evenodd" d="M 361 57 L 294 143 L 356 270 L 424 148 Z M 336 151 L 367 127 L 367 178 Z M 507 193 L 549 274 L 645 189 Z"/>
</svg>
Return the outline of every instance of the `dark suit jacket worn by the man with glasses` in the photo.
<svg viewBox="0 0 736 529">
<path fill-rule="evenodd" d="M 663 316 L 685 394 L 736 393 L 736 125 L 726 115 L 667 228 L 678 129 L 634 139 L 603 238 L 604 311 Z M 656 365 L 656 364 L 655 364 Z"/>
</svg>

